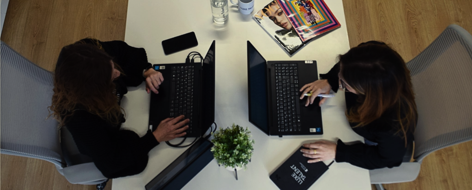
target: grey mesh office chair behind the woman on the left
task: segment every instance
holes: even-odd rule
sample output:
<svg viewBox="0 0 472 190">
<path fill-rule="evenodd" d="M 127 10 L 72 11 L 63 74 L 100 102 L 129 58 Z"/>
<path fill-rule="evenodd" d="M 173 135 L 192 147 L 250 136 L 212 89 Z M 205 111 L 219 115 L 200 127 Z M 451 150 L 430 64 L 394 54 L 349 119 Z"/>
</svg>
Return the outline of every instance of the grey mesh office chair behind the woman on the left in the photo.
<svg viewBox="0 0 472 190">
<path fill-rule="evenodd" d="M 53 75 L 0 44 L 0 153 L 46 160 L 70 183 L 93 185 L 107 180 L 91 158 L 81 155 L 64 128 L 46 119 Z"/>
</svg>

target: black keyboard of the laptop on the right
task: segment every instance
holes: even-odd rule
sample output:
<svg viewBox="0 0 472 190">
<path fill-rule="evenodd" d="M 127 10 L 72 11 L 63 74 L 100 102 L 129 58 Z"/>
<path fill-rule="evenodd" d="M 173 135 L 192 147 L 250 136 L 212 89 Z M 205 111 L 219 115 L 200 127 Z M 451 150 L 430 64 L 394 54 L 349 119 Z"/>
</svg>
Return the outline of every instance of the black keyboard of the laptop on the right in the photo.
<svg viewBox="0 0 472 190">
<path fill-rule="evenodd" d="M 275 66 L 278 131 L 302 131 L 297 64 Z"/>
</svg>

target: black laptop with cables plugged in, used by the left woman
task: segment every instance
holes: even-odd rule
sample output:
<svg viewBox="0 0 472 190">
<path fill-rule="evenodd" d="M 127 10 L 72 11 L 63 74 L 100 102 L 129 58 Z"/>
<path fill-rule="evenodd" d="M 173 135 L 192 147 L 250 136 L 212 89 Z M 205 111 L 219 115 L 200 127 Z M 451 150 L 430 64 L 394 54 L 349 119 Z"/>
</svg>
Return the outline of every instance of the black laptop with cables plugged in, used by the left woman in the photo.
<svg viewBox="0 0 472 190">
<path fill-rule="evenodd" d="M 215 120 L 215 41 L 203 63 L 155 64 L 164 82 L 151 93 L 149 128 L 160 121 L 185 115 L 190 119 L 185 137 L 202 137 Z"/>
</svg>

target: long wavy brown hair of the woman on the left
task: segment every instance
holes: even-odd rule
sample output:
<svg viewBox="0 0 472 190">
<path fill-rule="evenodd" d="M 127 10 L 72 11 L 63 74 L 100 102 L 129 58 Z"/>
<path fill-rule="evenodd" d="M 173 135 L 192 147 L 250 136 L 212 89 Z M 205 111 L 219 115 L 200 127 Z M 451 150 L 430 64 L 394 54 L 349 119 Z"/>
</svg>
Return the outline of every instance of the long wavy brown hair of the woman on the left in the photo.
<svg viewBox="0 0 472 190">
<path fill-rule="evenodd" d="M 54 70 L 52 104 L 48 107 L 59 127 L 79 109 L 113 125 L 120 122 L 123 109 L 118 105 L 111 79 L 112 59 L 93 44 L 74 43 L 62 48 Z"/>
</svg>

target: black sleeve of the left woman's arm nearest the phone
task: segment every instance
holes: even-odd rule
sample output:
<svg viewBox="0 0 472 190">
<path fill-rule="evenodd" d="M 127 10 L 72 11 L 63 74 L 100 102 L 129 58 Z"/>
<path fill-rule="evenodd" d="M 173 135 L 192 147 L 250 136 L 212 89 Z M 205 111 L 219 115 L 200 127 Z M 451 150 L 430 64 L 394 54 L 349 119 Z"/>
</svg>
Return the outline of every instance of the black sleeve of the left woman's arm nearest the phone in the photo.
<svg viewBox="0 0 472 190">
<path fill-rule="evenodd" d="M 123 69 L 125 76 L 121 78 L 124 79 L 126 86 L 139 86 L 144 81 L 143 70 L 151 66 L 144 48 L 135 48 L 123 41 L 100 43 L 105 52 Z"/>
</svg>

